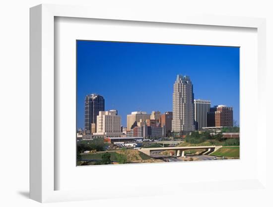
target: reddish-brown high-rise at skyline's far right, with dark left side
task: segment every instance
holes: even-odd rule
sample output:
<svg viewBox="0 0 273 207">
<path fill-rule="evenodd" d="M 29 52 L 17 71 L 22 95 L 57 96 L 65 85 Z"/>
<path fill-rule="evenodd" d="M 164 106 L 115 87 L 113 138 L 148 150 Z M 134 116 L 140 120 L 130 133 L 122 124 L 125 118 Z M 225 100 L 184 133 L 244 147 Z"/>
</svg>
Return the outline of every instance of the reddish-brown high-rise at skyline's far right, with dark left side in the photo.
<svg viewBox="0 0 273 207">
<path fill-rule="evenodd" d="M 210 108 L 207 121 L 208 127 L 232 127 L 233 108 L 226 105 L 216 105 Z"/>
</svg>

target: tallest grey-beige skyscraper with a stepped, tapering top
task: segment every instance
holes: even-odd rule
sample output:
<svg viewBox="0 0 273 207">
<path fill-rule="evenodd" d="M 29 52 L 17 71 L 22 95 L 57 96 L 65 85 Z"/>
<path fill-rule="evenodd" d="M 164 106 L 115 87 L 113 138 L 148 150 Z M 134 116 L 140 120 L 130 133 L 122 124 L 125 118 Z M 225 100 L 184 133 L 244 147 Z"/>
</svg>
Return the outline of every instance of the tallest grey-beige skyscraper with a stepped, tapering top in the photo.
<svg viewBox="0 0 273 207">
<path fill-rule="evenodd" d="M 180 135 L 194 131 L 194 93 L 188 76 L 177 75 L 173 86 L 172 131 Z"/>
</svg>

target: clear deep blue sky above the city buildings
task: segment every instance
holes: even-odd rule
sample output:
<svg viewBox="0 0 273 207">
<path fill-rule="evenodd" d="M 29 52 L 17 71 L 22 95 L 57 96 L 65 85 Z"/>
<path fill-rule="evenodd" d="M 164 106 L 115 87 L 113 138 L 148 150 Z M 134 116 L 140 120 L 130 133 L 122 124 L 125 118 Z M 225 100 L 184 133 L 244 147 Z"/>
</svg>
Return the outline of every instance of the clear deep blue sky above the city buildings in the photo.
<svg viewBox="0 0 273 207">
<path fill-rule="evenodd" d="M 195 99 L 233 106 L 239 123 L 239 48 L 199 45 L 77 41 L 77 128 L 84 98 L 100 94 L 105 109 L 127 114 L 172 111 L 177 74 L 190 76 Z"/>
</svg>

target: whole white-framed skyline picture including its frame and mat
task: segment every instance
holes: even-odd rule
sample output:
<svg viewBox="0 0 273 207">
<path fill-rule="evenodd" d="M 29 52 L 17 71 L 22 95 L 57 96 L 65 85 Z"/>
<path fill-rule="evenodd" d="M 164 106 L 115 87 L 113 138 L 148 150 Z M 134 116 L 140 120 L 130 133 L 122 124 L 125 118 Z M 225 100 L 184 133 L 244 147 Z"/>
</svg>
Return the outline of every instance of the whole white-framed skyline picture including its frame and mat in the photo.
<svg viewBox="0 0 273 207">
<path fill-rule="evenodd" d="M 31 199 L 268 192 L 265 19 L 43 4 L 30 40 Z"/>
</svg>

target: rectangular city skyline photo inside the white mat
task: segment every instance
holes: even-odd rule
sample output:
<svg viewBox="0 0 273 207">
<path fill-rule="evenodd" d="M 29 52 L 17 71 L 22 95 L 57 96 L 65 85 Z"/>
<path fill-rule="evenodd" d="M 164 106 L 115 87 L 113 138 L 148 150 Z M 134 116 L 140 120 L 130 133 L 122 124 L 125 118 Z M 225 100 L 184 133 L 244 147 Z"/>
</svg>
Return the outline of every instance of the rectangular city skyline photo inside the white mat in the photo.
<svg viewBox="0 0 273 207">
<path fill-rule="evenodd" d="M 239 47 L 76 47 L 77 165 L 239 159 Z"/>
</svg>

